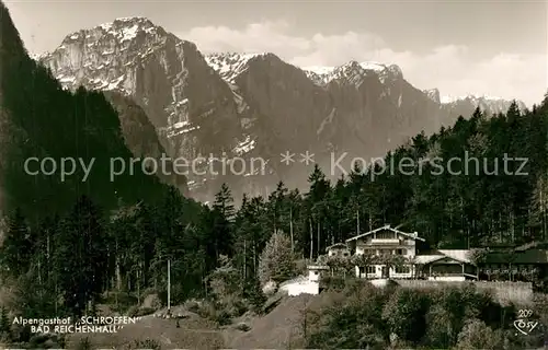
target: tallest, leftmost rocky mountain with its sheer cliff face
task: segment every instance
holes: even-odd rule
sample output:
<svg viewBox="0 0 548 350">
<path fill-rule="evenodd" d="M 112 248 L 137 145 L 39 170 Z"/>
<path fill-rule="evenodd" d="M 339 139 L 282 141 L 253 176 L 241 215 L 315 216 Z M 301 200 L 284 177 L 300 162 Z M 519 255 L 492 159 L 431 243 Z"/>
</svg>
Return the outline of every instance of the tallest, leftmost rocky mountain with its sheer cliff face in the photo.
<svg viewBox="0 0 548 350">
<path fill-rule="evenodd" d="M 215 151 L 214 144 L 199 143 L 213 129 L 224 145 L 239 131 L 230 89 L 196 46 L 146 19 L 121 19 L 73 33 L 41 61 L 68 88 L 84 85 L 132 96 L 170 155 Z"/>
</svg>

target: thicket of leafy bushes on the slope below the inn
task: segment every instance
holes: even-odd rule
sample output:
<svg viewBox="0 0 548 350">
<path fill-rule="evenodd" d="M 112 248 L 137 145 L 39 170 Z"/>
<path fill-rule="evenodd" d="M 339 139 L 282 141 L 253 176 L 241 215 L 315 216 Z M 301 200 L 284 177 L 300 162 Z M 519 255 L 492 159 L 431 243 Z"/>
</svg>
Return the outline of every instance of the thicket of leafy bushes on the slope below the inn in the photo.
<svg viewBox="0 0 548 350">
<path fill-rule="evenodd" d="M 514 337 L 514 306 L 503 306 L 473 287 L 412 290 L 346 284 L 322 294 L 331 300 L 308 327 L 307 346 L 321 349 L 524 349 L 538 337 Z M 544 306 L 543 306 L 544 305 Z M 532 306 L 529 306 L 532 307 Z M 537 299 L 539 325 L 548 300 Z M 538 311 L 538 312 L 537 312 Z M 548 320 L 547 320 L 548 322 Z M 538 331 L 540 335 L 541 331 Z"/>
</svg>

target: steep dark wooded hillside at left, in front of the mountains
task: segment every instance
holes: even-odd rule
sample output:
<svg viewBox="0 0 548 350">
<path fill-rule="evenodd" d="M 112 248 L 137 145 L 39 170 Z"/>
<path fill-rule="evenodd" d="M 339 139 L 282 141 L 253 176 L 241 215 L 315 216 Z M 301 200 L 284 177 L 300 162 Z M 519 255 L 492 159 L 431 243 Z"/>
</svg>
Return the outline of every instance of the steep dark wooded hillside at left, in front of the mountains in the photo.
<svg viewBox="0 0 548 350">
<path fill-rule="evenodd" d="M 48 213 L 62 213 L 81 195 L 104 209 L 118 203 L 153 200 L 167 187 L 156 176 L 126 171 L 110 179 L 110 160 L 129 162 L 133 154 L 124 143 L 116 112 L 102 93 L 79 89 L 71 93 L 44 67 L 32 60 L 19 37 L 8 10 L 0 4 L 0 210 L 24 209 L 32 221 Z M 139 154 L 140 155 L 140 154 Z M 25 160 L 52 158 L 53 175 L 25 173 Z M 60 178 L 62 159 L 76 161 L 76 172 Z M 95 160 L 83 179 L 82 166 Z M 38 163 L 32 163 L 32 171 Z M 46 171 L 52 170 L 48 163 Z"/>
</svg>

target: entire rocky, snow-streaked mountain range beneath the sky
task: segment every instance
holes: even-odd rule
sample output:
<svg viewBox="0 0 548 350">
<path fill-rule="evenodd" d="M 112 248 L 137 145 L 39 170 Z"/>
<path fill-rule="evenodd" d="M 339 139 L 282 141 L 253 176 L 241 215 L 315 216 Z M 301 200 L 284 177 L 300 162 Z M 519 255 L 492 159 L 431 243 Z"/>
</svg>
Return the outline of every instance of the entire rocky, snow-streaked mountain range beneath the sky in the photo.
<svg viewBox="0 0 548 350">
<path fill-rule="evenodd" d="M 71 33 L 36 60 L 65 89 L 109 92 L 123 120 L 130 105 L 132 115 L 140 117 L 123 133 L 134 154 L 157 158 L 164 150 L 171 159 L 197 160 L 184 180 L 203 200 L 220 183 L 237 197 L 265 194 L 279 179 L 300 187 L 311 164 L 299 163 L 298 155 L 307 151 L 323 167 L 343 152 L 349 160 L 383 156 L 421 131 L 435 132 L 460 115 L 470 116 L 478 106 L 496 114 L 511 104 L 486 96 L 442 98 L 437 89 L 413 86 L 396 65 L 299 68 L 271 52 L 204 55 L 145 18 Z M 296 154 L 295 163 L 281 163 L 284 152 Z M 227 171 L 220 162 L 199 159 L 210 155 L 243 161 L 236 172 Z M 181 176 L 168 177 L 182 186 Z"/>
</svg>

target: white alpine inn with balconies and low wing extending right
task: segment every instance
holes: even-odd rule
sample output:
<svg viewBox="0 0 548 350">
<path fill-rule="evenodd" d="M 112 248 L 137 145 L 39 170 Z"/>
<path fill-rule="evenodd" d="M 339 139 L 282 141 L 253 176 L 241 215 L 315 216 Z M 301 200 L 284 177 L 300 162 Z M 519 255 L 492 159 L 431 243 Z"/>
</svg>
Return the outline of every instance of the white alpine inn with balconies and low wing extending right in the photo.
<svg viewBox="0 0 548 350">
<path fill-rule="evenodd" d="M 487 249 L 475 261 L 473 249 L 430 249 L 416 232 L 383 228 L 358 234 L 327 248 L 328 257 L 349 257 L 355 275 L 367 279 L 548 280 L 548 243 Z M 392 262 L 384 262 L 392 261 Z M 393 261 L 398 261 L 397 264 Z"/>
</svg>

